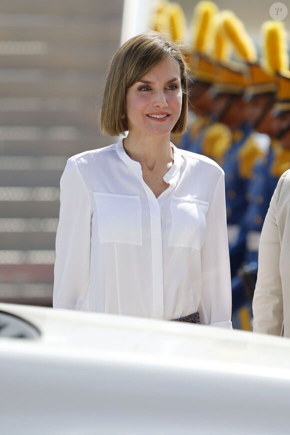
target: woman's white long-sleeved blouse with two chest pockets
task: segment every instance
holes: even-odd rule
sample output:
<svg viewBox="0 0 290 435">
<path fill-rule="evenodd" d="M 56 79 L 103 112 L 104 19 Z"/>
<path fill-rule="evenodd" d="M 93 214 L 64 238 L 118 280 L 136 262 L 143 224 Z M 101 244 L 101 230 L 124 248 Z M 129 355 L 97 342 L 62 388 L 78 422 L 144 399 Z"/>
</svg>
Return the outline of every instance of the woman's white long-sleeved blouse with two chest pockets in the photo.
<svg viewBox="0 0 290 435">
<path fill-rule="evenodd" d="M 173 146 L 157 198 L 122 141 L 67 160 L 53 307 L 231 327 L 224 173 Z"/>
</svg>

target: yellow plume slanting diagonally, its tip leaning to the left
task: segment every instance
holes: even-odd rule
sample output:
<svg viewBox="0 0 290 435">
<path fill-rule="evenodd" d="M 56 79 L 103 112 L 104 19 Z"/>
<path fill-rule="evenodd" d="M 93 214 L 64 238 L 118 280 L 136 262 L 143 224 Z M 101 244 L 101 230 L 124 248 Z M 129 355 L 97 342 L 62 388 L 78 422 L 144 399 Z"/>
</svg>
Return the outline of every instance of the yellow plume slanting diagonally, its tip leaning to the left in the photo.
<svg viewBox="0 0 290 435">
<path fill-rule="evenodd" d="M 236 55 L 244 61 L 255 62 L 257 58 L 256 49 L 243 23 L 230 10 L 222 13 L 222 30 L 232 43 Z"/>
</svg>

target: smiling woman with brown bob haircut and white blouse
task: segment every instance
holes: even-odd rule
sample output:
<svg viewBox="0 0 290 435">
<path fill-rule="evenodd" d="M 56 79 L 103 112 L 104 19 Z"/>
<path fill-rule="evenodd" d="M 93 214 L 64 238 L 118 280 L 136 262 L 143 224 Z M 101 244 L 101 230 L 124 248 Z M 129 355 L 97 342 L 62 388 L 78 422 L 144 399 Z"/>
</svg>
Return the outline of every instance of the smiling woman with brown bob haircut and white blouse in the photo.
<svg viewBox="0 0 290 435">
<path fill-rule="evenodd" d="M 157 32 L 115 53 L 100 112 L 117 143 L 68 159 L 53 306 L 231 327 L 224 174 L 177 149 L 188 70 Z"/>
</svg>

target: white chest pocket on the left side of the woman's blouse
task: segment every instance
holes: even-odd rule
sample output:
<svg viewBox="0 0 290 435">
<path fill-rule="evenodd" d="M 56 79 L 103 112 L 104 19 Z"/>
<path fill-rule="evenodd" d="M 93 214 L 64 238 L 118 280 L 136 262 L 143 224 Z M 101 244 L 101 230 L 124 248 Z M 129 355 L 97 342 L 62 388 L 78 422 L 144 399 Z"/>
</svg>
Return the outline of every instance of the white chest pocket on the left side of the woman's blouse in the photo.
<svg viewBox="0 0 290 435">
<path fill-rule="evenodd" d="M 128 243 L 141 246 L 141 202 L 138 195 L 93 192 L 101 243 Z"/>
</svg>

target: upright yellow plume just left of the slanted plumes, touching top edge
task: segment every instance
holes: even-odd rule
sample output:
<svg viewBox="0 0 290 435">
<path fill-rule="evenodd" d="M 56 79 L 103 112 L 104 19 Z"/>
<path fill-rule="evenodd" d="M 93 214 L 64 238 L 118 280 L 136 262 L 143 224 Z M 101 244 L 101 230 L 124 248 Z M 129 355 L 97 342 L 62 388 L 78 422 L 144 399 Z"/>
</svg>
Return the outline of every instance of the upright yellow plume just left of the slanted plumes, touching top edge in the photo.
<svg viewBox="0 0 290 435">
<path fill-rule="evenodd" d="M 217 10 L 212 1 L 199 1 L 195 6 L 191 22 L 191 50 L 206 52 L 208 40 L 212 37 L 212 18 Z"/>
</svg>

